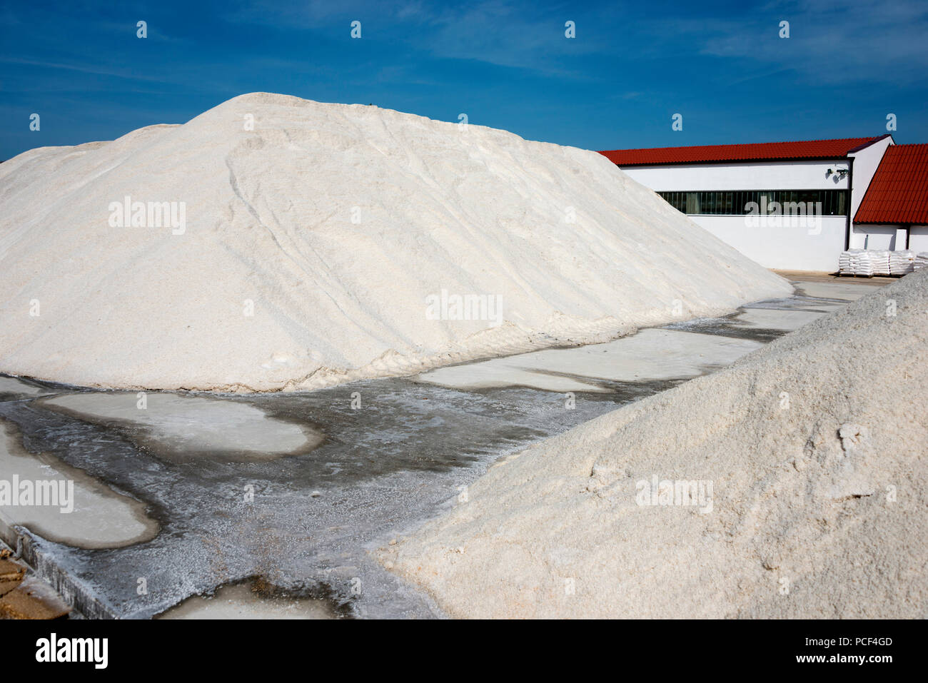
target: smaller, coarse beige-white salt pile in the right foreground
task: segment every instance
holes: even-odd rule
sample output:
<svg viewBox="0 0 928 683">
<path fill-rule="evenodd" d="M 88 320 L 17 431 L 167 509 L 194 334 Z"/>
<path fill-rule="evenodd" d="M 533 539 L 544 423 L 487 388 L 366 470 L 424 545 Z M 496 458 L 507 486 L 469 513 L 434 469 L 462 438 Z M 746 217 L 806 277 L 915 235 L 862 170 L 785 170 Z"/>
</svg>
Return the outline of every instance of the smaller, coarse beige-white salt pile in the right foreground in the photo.
<svg viewBox="0 0 928 683">
<path fill-rule="evenodd" d="M 510 457 L 380 559 L 460 616 L 924 618 L 925 406 L 920 272 Z"/>
</svg>

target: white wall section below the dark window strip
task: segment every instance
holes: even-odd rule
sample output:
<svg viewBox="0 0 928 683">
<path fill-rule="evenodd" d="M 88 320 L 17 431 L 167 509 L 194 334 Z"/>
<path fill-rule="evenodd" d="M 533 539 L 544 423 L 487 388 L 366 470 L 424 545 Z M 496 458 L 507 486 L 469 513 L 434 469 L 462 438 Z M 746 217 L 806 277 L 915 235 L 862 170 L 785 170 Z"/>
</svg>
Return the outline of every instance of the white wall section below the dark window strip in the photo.
<svg viewBox="0 0 928 683">
<path fill-rule="evenodd" d="M 766 268 L 833 273 L 838 269 L 838 255 L 844 250 L 844 216 L 822 216 L 820 226 L 814 227 L 747 226 L 745 216 L 690 218 Z"/>
</svg>

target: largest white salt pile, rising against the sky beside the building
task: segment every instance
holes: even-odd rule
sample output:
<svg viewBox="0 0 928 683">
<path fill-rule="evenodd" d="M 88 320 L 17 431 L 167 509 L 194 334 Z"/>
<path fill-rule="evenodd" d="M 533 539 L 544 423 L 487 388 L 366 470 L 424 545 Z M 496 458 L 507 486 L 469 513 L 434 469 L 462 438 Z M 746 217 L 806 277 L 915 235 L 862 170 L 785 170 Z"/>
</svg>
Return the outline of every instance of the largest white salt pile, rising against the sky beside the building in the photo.
<svg viewBox="0 0 928 683">
<path fill-rule="evenodd" d="M 0 165 L 24 376 L 313 388 L 791 291 L 595 152 L 376 107 L 251 94 Z"/>
</svg>

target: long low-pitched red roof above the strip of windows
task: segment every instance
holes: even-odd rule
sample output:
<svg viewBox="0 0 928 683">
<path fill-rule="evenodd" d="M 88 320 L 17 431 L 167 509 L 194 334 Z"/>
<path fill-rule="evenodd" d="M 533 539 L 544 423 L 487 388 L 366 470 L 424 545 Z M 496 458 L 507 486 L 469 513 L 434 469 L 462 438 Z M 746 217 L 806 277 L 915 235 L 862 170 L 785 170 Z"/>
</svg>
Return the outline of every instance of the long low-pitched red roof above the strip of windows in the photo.
<svg viewBox="0 0 928 683">
<path fill-rule="evenodd" d="M 885 137 L 844 137 L 839 140 L 799 142 L 761 142 L 751 145 L 700 145 L 698 147 L 658 147 L 600 151 L 612 163 L 645 166 L 664 163 L 702 163 L 710 161 L 783 161 L 788 159 L 844 159 L 848 152 L 867 147 Z"/>
</svg>

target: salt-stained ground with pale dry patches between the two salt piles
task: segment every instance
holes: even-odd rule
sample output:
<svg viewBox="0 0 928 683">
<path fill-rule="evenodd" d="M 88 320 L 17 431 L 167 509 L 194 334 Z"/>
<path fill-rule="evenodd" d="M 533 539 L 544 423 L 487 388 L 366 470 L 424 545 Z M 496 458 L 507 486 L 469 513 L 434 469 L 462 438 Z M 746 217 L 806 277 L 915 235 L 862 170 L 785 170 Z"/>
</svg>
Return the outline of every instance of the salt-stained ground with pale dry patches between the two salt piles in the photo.
<svg viewBox="0 0 928 683">
<path fill-rule="evenodd" d="M 45 454 L 81 470 L 98 496 L 109 492 L 124 533 L 132 521 L 159 529 L 124 546 L 95 539 L 104 527 L 92 516 L 33 525 L 45 532 L 42 550 L 114 615 L 150 617 L 189 598 L 172 613 L 435 616 L 368 550 L 451 505 L 496 458 L 724 367 L 842 305 L 793 297 L 608 344 L 312 393 L 95 392 L 0 377 L 0 421 L 18 434 L 18 456 Z M 0 509 L 13 522 L 18 513 Z M 328 597 L 255 601 L 241 587 L 253 576 L 287 595 L 325 586 Z"/>
</svg>

